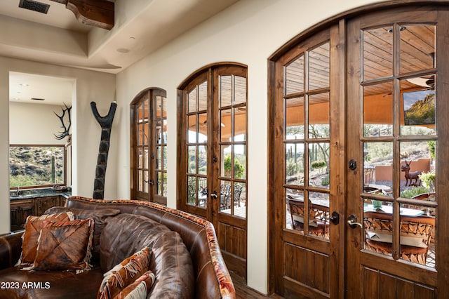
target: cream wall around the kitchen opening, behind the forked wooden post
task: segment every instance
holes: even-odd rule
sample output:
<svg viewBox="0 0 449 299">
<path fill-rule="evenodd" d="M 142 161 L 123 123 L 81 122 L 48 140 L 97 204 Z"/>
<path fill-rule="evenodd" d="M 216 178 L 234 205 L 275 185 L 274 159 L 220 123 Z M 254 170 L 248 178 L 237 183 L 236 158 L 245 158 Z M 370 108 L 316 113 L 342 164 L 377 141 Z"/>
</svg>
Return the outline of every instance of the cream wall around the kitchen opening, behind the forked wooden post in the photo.
<svg viewBox="0 0 449 299">
<path fill-rule="evenodd" d="M 98 146 L 100 144 L 101 128 L 91 112 L 90 102 L 97 103 L 101 115 L 107 114 L 110 102 L 115 97 L 115 75 L 92 72 L 71 67 L 58 67 L 39 62 L 30 62 L 13 58 L 0 57 L 0 234 L 9 232 L 9 72 L 41 74 L 51 77 L 72 78 L 76 81 L 72 99 L 72 136 L 73 136 L 73 190 L 72 194 L 92 197 L 93 179 L 97 164 Z M 14 106 L 14 105 L 13 105 Z M 13 111 L 16 107 L 13 107 Z M 122 107 L 117 107 L 119 116 Z M 13 112 L 15 113 L 15 112 Z M 55 119 L 53 115 L 51 117 Z M 56 118 L 56 129 L 58 130 Z M 109 159 L 106 174 L 105 198 L 116 198 L 116 182 L 119 173 L 117 157 L 121 148 L 118 146 L 117 135 L 121 124 L 114 120 L 112 126 L 112 141 L 114 147 L 109 149 Z M 15 135 L 15 133 L 11 133 Z M 11 142 L 15 137 L 12 136 Z M 41 136 L 43 138 L 43 136 Z M 114 141 L 115 139 L 115 141 Z M 52 140 L 54 142 L 55 140 Z"/>
</svg>

